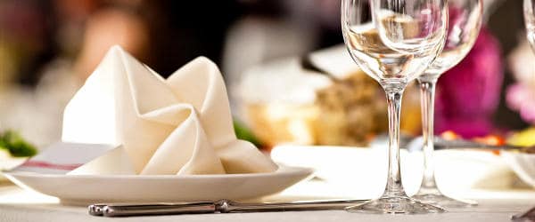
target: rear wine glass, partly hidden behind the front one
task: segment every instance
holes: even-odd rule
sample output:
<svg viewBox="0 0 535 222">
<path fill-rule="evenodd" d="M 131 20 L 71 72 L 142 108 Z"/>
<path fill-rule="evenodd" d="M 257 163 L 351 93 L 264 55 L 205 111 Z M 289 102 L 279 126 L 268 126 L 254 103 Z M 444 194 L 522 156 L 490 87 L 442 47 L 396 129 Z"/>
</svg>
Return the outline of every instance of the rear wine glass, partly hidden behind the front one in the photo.
<svg viewBox="0 0 535 222">
<path fill-rule="evenodd" d="M 449 28 L 446 44 L 439 57 L 418 77 L 422 102 L 422 131 L 424 136 L 424 178 L 419 191 L 412 196 L 425 203 L 440 207 L 475 205 L 473 201 L 460 201 L 442 194 L 434 177 L 433 115 L 435 85 L 441 74 L 457 65 L 472 49 L 481 28 L 481 0 L 449 0 Z"/>
</svg>

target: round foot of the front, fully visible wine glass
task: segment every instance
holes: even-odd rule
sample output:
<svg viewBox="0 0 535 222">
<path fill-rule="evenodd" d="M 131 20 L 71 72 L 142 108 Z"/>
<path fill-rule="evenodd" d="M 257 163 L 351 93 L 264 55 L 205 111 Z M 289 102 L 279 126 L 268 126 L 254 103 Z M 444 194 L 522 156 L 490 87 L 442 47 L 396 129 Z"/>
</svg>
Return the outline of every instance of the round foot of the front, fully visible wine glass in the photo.
<svg viewBox="0 0 535 222">
<path fill-rule="evenodd" d="M 426 214 L 446 212 L 446 210 L 440 207 L 418 202 L 407 196 L 382 197 L 377 200 L 348 207 L 346 210 L 355 213 L 375 214 Z"/>
</svg>

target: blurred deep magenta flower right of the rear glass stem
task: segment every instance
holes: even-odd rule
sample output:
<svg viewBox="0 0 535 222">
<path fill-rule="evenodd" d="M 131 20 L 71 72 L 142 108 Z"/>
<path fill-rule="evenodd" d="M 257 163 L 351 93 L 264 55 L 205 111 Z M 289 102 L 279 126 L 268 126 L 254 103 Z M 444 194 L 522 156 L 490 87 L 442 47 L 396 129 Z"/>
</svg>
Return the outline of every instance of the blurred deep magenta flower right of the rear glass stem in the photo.
<svg viewBox="0 0 535 222">
<path fill-rule="evenodd" d="M 440 77 L 435 131 L 456 131 L 465 138 L 493 131 L 491 115 L 498 107 L 503 76 L 498 41 L 481 28 L 472 51 Z"/>
</svg>

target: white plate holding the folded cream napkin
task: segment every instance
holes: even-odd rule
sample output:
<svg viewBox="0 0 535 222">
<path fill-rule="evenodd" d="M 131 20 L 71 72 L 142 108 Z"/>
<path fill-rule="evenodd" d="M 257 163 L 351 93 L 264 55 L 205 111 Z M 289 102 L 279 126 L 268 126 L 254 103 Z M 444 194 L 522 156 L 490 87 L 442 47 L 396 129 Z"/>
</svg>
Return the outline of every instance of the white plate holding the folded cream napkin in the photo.
<svg viewBox="0 0 535 222">
<path fill-rule="evenodd" d="M 281 167 L 272 173 L 139 176 L 53 175 L 4 172 L 19 186 L 60 198 L 62 203 L 247 200 L 276 194 L 312 174 Z"/>
</svg>

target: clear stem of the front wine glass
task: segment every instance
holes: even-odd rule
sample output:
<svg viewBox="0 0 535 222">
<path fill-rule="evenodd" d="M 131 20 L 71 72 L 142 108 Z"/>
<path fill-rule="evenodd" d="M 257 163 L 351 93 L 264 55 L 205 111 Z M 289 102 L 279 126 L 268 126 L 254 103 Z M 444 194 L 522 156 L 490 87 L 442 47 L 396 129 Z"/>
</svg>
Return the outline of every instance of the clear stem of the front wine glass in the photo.
<svg viewBox="0 0 535 222">
<path fill-rule="evenodd" d="M 389 117 L 388 179 L 383 196 L 406 196 L 399 168 L 399 117 L 405 85 L 383 88 L 386 91 Z"/>
</svg>

